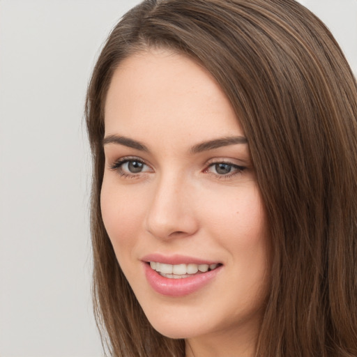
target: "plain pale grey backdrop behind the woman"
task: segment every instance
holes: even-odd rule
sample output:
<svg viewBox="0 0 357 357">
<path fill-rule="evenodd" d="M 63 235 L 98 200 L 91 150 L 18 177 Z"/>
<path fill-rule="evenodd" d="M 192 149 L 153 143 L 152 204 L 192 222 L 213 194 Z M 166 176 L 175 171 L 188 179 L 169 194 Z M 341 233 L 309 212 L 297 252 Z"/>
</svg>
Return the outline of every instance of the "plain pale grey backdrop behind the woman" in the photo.
<svg viewBox="0 0 357 357">
<path fill-rule="evenodd" d="M 86 85 L 136 0 L 0 0 L 0 357 L 99 357 Z M 357 73 L 357 0 L 301 0 Z"/>
</svg>

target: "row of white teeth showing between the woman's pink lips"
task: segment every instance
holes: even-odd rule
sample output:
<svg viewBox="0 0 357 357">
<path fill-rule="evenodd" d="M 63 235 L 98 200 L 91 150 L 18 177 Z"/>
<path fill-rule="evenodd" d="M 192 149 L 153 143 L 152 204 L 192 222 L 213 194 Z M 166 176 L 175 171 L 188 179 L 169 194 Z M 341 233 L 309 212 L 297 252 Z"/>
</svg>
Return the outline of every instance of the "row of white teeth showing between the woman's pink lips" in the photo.
<svg viewBox="0 0 357 357">
<path fill-rule="evenodd" d="M 167 276 L 167 278 L 183 278 L 177 275 L 192 275 L 198 271 L 206 273 L 208 270 L 213 271 L 217 268 L 218 264 L 164 264 L 158 261 L 150 261 L 150 266 L 154 271 Z"/>
</svg>

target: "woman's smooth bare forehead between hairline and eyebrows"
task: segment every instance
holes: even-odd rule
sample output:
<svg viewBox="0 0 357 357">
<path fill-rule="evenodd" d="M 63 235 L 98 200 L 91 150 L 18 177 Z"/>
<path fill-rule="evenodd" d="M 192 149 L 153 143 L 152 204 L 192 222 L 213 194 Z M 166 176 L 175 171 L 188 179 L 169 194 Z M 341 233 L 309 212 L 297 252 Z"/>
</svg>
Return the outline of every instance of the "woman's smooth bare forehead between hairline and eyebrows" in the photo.
<svg viewBox="0 0 357 357">
<path fill-rule="evenodd" d="M 134 130 L 134 131 L 133 131 Z M 242 134 L 234 109 L 208 70 L 187 56 L 156 50 L 115 70 L 105 102 L 105 135 L 211 139 Z"/>
</svg>

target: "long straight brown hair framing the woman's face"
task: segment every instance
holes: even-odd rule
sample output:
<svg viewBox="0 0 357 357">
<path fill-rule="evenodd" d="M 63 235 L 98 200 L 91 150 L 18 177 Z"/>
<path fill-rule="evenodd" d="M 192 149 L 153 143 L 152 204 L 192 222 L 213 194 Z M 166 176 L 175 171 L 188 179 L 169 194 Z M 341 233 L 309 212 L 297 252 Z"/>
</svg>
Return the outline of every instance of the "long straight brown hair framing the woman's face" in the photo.
<svg viewBox="0 0 357 357">
<path fill-rule="evenodd" d="M 184 356 L 153 330 L 100 213 L 107 89 L 121 61 L 165 47 L 215 77 L 250 145 L 273 246 L 256 356 L 357 356 L 357 88 L 331 33 L 294 0 L 146 0 L 116 25 L 86 99 L 93 298 L 112 356 Z"/>
</svg>

